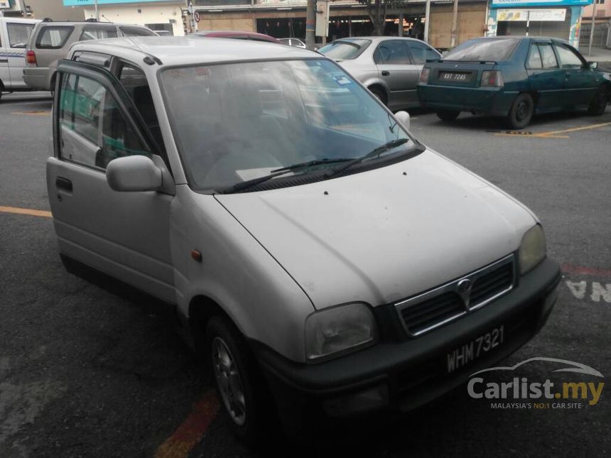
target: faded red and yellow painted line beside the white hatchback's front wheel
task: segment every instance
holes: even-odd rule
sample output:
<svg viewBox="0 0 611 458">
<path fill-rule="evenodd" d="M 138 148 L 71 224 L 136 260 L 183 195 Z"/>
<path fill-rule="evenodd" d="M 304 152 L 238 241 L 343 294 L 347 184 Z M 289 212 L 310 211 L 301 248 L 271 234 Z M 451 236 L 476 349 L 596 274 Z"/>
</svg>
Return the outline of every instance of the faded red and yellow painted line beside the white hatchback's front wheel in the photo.
<svg viewBox="0 0 611 458">
<path fill-rule="evenodd" d="M 214 391 L 205 393 L 202 400 L 193 405 L 193 410 L 173 435 L 163 442 L 155 453 L 155 458 L 188 457 L 191 449 L 198 445 L 212 420 L 215 419 L 220 405 Z"/>
</svg>

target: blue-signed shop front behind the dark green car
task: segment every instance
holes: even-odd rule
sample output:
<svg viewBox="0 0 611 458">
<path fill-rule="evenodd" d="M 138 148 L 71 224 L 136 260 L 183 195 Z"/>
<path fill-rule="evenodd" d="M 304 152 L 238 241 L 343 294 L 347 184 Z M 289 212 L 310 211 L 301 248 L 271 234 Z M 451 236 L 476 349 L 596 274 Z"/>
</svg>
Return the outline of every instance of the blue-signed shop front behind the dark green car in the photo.
<svg viewBox="0 0 611 458">
<path fill-rule="evenodd" d="M 491 0 L 487 36 L 546 36 L 579 45 L 582 7 L 592 0 Z"/>
</svg>

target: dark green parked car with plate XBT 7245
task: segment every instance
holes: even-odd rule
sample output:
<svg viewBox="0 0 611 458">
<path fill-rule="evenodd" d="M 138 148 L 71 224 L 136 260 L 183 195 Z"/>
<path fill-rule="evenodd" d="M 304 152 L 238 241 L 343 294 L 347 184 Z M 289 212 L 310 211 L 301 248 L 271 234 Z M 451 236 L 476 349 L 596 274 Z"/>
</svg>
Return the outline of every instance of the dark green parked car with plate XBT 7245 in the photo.
<svg viewBox="0 0 611 458">
<path fill-rule="evenodd" d="M 470 111 L 502 116 L 511 129 L 522 129 L 534 114 L 604 113 L 611 80 L 597 66 L 558 38 L 473 38 L 426 64 L 418 98 L 444 121 Z"/>
</svg>

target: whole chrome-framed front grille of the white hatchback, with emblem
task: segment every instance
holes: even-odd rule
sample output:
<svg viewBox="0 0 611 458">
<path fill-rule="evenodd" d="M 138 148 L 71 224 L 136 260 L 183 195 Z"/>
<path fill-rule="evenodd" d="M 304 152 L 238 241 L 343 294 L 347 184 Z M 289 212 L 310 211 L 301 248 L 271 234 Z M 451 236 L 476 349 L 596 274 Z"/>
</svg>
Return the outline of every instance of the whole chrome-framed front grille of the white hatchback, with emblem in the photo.
<svg viewBox="0 0 611 458">
<path fill-rule="evenodd" d="M 416 337 L 457 320 L 500 296 L 514 285 L 514 255 L 469 273 L 394 306 L 405 332 Z"/>
</svg>

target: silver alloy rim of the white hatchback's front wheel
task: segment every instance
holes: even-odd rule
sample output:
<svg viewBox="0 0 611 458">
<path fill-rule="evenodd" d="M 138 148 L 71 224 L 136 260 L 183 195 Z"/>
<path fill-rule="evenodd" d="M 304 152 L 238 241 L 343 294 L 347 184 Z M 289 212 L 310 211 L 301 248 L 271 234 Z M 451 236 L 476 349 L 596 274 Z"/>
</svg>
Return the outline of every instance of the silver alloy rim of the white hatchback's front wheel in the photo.
<svg viewBox="0 0 611 458">
<path fill-rule="evenodd" d="M 246 422 L 244 386 L 237 364 L 229 347 L 220 337 L 212 340 L 212 365 L 225 408 L 232 420 L 242 426 Z"/>
</svg>

